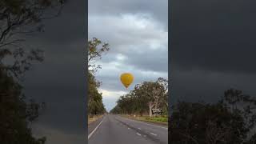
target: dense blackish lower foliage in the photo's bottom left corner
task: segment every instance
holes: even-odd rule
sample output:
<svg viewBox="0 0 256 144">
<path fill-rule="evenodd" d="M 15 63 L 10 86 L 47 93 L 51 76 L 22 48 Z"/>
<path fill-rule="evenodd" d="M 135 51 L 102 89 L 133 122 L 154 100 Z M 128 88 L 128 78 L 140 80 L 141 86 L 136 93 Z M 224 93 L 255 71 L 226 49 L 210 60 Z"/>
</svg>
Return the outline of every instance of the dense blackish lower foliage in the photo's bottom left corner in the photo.
<svg viewBox="0 0 256 144">
<path fill-rule="evenodd" d="M 2 144 L 41 144 L 46 138 L 34 138 L 30 123 L 38 118 L 42 106 L 25 102 L 22 86 L 0 70 L 0 142 Z"/>
</svg>

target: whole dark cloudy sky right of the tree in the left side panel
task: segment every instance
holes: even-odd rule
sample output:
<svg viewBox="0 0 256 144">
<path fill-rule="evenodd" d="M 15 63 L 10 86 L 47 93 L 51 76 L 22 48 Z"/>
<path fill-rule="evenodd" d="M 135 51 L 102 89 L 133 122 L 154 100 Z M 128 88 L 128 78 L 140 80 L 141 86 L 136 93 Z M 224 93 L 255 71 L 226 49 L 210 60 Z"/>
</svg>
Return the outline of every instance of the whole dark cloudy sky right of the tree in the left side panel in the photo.
<svg viewBox="0 0 256 144">
<path fill-rule="evenodd" d="M 85 2 L 68 1 L 58 18 L 44 22 L 44 33 L 27 38 L 26 46 L 45 55 L 26 73 L 24 86 L 27 97 L 46 102 L 34 127 L 47 144 L 86 142 L 85 16 Z"/>
</svg>

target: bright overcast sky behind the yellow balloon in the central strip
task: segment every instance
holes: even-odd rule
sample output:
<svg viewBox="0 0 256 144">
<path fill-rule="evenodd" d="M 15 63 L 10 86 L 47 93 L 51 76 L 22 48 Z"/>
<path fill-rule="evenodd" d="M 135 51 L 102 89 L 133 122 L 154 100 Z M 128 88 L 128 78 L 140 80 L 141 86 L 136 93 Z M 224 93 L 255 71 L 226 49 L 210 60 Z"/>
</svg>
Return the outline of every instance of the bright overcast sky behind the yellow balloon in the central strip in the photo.
<svg viewBox="0 0 256 144">
<path fill-rule="evenodd" d="M 96 74 L 106 110 L 135 84 L 168 78 L 167 4 L 167 0 L 89 1 L 89 38 L 110 44 L 110 51 L 98 62 L 102 70 Z M 124 72 L 134 74 L 129 90 L 120 82 Z"/>
</svg>

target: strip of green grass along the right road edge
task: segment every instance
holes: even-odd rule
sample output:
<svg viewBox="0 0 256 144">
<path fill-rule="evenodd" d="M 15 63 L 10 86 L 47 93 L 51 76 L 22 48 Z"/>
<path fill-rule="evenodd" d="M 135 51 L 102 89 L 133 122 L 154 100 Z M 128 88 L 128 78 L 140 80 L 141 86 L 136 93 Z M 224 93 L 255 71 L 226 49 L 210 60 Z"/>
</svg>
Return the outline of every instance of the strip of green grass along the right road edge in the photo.
<svg viewBox="0 0 256 144">
<path fill-rule="evenodd" d="M 134 119 L 137 121 L 151 122 L 151 123 L 162 124 L 162 125 L 168 126 L 168 116 L 166 116 L 166 115 L 150 117 L 148 115 L 138 116 L 138 115 L 123 114 L 122 117 Z"/>
</svg>

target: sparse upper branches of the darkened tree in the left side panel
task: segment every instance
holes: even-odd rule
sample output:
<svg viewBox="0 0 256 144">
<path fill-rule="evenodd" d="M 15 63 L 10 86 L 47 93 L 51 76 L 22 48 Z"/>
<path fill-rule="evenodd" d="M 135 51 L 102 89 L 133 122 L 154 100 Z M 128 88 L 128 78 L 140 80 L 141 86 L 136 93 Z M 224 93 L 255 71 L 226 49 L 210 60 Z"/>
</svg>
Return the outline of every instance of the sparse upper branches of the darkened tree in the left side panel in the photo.
<svg viewBox="0 0 256 144">
<path fill-rule="evenodd" d="M 26 36 L 42 32 L 42 21 L 60 14 L 64 1 L 2 0 L 0 2 L 0 69 L 16 78 L 30 70 L 31 61 L 43 60 L 42 50 L 28 50 Z M 5 58 L 9 61 L 6 64 Z"/>
</svg>

